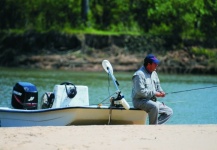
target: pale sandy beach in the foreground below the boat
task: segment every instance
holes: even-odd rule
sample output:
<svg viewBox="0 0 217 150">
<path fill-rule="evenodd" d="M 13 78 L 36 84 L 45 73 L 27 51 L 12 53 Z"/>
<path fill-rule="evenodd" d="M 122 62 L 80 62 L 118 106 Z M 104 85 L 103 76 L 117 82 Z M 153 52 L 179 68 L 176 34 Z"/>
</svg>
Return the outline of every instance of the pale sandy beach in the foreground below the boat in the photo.
<svg viewBox="0 0 217 150">
<path fill-rule="evenodd" d="M 0 128 L 0 150 L 217 150 L 217 125 Z"/>
</svg>

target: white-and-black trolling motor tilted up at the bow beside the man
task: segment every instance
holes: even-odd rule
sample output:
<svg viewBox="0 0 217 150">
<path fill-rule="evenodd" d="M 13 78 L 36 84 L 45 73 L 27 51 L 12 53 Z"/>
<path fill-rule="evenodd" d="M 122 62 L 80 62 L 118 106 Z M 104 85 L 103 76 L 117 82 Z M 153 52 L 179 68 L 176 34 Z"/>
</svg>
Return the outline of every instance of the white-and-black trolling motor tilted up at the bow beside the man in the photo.
<svg viewBox="0 0 217 150">
<path fill-rule="evenodd" d="M 118 88 L 119 83 L 118 83 L 118 81 L 115 79 L 115 77 L 113 75 L 113 68 L 112 68 L 110 62 L 108 60 L 103 60 L 102 61 L 102 66 L 105 69 L 105 71 L 109 74 L 109 76 L 112 78 L 112 81 L 113 81 L 113 83 L 114 83 L 114 85 L 115 85 L 115 87 L 117 89 L 116 97 L 111 97 L 110 98 L 111 106 L 115 106 L 115 107 L 123 106 L 127 110 L 130 109 L 129 104 L 124 99 L 124 96 L 121 94 L 121 91 Z"/>
</svg>

